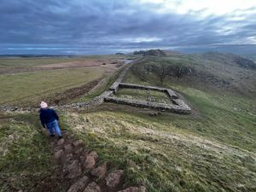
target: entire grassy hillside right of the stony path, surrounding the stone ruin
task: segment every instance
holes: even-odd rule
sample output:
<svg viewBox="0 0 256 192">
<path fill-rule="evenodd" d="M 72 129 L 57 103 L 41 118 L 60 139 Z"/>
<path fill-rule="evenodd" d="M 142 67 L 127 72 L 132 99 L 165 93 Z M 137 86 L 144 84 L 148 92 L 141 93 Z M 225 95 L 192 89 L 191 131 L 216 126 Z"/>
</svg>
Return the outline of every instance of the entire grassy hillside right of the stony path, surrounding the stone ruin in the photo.
<svg viewBox="0 0 256 192">
<path fill-rule="evenodd" d="M 152 71 L 160 65 L 170 70 L 162 84 Z M 66 114 L 67 125 L 90 148 L 125 167 L 127 183 L 166 192 L 256 190 L 253 69 L 203 55 L 147 57 L 131 67 L 125 82 L 172 88 L 193 108 L 189 116 L 154 118 L 113 104 Z M 141 96 L 128 90 L 118 95 Z"/>
</svg>

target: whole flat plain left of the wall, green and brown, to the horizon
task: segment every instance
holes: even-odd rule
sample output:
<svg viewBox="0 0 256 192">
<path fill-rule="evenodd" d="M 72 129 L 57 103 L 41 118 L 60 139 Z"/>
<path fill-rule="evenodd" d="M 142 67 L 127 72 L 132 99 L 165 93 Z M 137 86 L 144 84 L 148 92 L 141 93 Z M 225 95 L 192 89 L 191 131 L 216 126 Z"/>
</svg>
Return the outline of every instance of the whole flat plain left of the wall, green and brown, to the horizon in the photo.
<svg viewBox="0 0 256 192">
<path fill-rule="evenodd" d="M 102 79 L 122 65 L 122 58 L 119 55 L 0 58 L 0 105 L 29 106 L 55 93 Z"/>
</svg>

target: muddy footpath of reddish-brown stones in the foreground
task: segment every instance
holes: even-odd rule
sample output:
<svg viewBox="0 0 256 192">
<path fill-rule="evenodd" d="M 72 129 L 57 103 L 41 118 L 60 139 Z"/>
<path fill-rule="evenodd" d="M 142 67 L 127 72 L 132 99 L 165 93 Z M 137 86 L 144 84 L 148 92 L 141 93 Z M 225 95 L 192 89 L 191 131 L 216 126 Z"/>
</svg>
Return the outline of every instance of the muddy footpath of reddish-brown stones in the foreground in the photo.
<svg viewBox="0 0 256 192">
<path fill-rule="evenodd" d="M 44 178 L 35 191 L 56 191 L 56 187 L 67 192 L 145 192 L 143 186 L 124 186 L 124 171 L 109 170 L 109 163 L 99 164 L 100 157 L 87 149 L 83 142 L 74 140 L 67 132 L 63 137 L 49 137 L 54 150 L 55 172 Z"/>
</svg>

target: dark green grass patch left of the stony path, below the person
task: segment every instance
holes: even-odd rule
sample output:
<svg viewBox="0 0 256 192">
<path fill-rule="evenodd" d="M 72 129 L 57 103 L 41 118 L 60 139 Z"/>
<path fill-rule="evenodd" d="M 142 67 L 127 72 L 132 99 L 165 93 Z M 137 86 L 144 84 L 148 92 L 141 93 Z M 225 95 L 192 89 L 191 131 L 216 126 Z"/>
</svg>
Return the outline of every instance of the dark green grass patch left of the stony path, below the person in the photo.
<svg viewBox="0 0 256 192">
<path fill-rule="evenodd" d="M 34 114 L 0 115 L 0 191 L 32 191 L 55 168 Z"/>
</svg>

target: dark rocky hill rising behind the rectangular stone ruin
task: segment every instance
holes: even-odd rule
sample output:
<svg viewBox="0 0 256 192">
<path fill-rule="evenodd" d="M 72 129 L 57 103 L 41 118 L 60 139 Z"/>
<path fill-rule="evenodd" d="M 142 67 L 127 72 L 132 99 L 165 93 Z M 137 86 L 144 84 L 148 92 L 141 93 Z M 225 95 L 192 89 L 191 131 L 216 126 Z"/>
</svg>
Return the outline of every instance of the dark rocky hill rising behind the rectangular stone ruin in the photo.
<svg viewBox="0 0 256 192">
<path fill-rule="evenodd" d="M 137 62 L 126 83 L 179 84 L 201 90 L 229 90 L 234 94 L 255 96 L 256 64 L 236 55 L 208 53 L 145 57 Z"/>
</svg>

